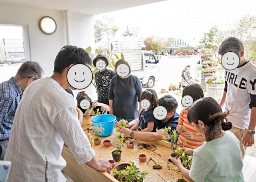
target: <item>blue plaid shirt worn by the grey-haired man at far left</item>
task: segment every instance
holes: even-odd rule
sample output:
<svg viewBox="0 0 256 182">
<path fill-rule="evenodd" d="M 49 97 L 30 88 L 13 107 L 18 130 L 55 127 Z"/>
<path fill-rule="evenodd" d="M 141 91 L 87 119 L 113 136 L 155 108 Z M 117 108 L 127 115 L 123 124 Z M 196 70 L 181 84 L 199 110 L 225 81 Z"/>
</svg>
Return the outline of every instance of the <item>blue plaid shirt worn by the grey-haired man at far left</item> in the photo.
<svg viewBox="0 0 256 182">
<path fill-rule="evenodd" d="M 8 140 L 14 114 L 22 97 L 22 90 L 14 80 L 0 83 L 0 140 Z"/>
</svg>

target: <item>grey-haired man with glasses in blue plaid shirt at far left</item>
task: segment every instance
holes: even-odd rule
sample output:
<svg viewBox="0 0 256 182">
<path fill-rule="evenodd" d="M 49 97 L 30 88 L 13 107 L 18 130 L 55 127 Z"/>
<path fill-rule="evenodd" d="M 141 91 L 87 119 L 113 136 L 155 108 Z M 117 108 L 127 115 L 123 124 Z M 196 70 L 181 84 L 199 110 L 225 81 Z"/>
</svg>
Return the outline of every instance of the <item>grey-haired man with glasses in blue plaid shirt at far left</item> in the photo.
<svg viewBox="0 0 256 182">
<path fill-rule="evenodd" d="M 26 87 L 34 80 L 40 79 L 43 69 L 37 62 L 24 62 L 17 74 L 0 83 L 0 160 L 4 159 L 10 138 L 14 114 Z"/>
</svg>

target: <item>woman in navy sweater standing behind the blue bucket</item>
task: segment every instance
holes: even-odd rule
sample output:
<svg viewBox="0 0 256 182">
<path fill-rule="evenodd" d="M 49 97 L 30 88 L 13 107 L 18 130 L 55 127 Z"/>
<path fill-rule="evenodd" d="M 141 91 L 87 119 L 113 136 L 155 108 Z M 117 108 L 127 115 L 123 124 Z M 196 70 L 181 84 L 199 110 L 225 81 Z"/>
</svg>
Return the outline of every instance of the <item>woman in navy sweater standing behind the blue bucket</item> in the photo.
<svg viewBox="0 0 256 182">
<path fill-rule="evenodd" d="M 131 67 L 124 59 L 116 62 L 115 72 L 116 76 L 109 85 L 110 114 L 114 114 L 117 120 L 130 122 L 137 119 L 141 111 L 138 104 L 142 92 L 141 82 L 137 76 L 131 75 Z"/>
</svg>

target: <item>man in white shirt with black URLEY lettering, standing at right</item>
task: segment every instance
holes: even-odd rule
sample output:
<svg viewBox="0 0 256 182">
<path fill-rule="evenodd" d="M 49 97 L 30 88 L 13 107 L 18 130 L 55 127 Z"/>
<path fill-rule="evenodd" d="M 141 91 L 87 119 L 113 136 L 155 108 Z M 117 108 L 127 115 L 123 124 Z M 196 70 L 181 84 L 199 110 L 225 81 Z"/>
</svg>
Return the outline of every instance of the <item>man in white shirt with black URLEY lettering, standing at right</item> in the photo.
<svg viewBox="0 0 256 182">
<path fill-rule="evenodd" d="M 246 147 L 254 144 L 256 126 L 256 66 L 244 57 L 242 42 L 229 37 L 219 47 L 219 54 L 235 52 L 240 59 L 236 69 L 225 70 L 225 88 L 220 106 L 229 110 L 227 119 L 232 122 L 230 131 L 240 141 L 242 158 Z M 234 58 L 233 58 L 234 59 Z M 229 60 L 230 61 L 230 60 Z M 231 62 L 232 63 L 232 59 Z"/>
</svg>

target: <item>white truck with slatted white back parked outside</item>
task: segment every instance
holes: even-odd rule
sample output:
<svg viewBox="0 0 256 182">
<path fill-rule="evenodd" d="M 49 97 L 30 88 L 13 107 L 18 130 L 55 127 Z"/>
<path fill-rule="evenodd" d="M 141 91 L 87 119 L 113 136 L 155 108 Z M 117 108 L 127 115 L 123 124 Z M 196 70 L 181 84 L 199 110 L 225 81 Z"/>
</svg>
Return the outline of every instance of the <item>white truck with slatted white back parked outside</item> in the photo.
<svg viewBox="0 0 256 182">
<path fill-rule="evenodd" d="M 132 75 L 138 76 L 143 86 L 152 88 L 155 81 L 160 79 L 159 60 L 151 51 L 142 51 L 145 47 L 143 42 L 134 40 L 113 41 L 113 54 L 124 55 L 125 61 L 129 62 Z"/>
</svg>

